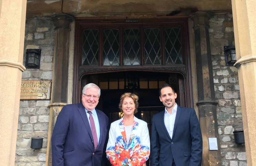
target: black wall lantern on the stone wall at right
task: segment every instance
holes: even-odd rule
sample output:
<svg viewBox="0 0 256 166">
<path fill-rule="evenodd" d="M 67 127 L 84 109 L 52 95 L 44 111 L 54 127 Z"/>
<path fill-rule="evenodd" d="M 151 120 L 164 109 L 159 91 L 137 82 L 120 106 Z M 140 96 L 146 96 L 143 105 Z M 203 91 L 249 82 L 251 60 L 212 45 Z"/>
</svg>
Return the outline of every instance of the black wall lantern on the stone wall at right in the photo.
<svg viewBox="0 0 256 166">
<path fill-rule="evenodd" d="M 237 61 L 235 46 L 224 46 L 224 54 L 226 66 L 233 66 Z"/>
</svg>

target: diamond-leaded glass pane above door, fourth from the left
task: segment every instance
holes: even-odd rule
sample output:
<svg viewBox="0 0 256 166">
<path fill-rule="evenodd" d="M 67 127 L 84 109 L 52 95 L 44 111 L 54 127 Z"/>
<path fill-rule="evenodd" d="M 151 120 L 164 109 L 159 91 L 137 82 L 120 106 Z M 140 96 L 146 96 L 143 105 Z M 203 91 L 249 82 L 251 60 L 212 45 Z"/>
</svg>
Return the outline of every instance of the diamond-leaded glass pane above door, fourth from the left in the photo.
<svg viewBox="0 0 256 166">
<path fill-rule="evenodd" d="M 144 30 L 145 65 L 161 65 L 160 29 Z"/>
</svg>

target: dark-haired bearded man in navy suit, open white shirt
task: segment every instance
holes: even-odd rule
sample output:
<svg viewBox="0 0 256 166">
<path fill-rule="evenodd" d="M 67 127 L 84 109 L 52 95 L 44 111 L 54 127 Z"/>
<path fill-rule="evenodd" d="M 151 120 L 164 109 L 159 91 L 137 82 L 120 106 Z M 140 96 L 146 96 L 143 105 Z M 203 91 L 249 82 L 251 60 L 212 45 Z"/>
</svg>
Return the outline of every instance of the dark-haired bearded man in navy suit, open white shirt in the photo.
<svg viewBox="0 0 256 166">
<path fill-rule="evenodd" d="M 195 110 L 178 106 L 168 84 L 159 95 L 165 110 L 153 116 L 151 166 L 201 166 L 203 140 Z"/>
</svg>

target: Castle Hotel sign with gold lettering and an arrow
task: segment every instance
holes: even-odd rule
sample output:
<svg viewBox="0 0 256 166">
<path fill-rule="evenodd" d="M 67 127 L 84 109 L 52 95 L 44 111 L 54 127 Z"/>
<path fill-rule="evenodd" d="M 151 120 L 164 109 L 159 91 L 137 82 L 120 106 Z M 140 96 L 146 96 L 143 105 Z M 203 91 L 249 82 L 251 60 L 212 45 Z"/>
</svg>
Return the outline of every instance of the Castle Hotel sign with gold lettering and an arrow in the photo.
<svg viewBox="0 0 256 166">
<path fill-rule="evenodd" d="M 21 81 L 20 100 L 50 100 L 52 81 Z"/>
</svg>

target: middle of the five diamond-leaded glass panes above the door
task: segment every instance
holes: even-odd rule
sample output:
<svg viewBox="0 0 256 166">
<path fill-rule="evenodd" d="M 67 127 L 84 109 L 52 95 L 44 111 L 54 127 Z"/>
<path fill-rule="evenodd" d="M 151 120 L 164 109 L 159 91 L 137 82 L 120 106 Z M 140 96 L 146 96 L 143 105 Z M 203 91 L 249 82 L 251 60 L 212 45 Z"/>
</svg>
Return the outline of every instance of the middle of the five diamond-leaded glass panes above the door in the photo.
<svg viewBox="0 0 256 166">
<path fill-rule="evenodd" d="M 140 65 L 139 38 L 138 29 L 124 30 L 124 65 Z"/>
</svg>

